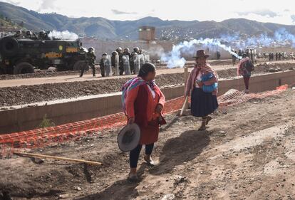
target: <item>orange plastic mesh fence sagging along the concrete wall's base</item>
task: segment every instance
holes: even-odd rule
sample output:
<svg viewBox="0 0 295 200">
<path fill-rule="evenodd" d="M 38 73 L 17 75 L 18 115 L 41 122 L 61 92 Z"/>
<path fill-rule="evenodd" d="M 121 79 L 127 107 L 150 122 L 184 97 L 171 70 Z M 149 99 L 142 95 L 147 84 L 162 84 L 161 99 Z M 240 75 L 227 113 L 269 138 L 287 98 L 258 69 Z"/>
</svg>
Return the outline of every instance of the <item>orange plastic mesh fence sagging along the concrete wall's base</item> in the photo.
<svg viewBox="0 0 295 200">
<path fill-rule="evenodd" d="M 229 90 L 224 95 L 218 97 L 218 102 L 220 107 L 237 105 L 254 98 L 263 99 L 278 95 L 287 88 L 288 85 L 282 85 L 276 88 L 276 90 L 250 94 L 239 92 L 238 90 Z M 180 97 L 167 101 L 163 110 L 164 115 L 180 110 L 184 100 L 185 97 Z M 54 143 L 79 140 L 81 137 L 86 137 L 87 135 L 110 130 L 113 127 L 123 126 L 126 120 L 124 113 L 120 112 L 114 115 L 58 125 L 56 127 L 0 135 L 0 156 L 6 157 L 21 149 L 41 148 Z"/>
</svg>

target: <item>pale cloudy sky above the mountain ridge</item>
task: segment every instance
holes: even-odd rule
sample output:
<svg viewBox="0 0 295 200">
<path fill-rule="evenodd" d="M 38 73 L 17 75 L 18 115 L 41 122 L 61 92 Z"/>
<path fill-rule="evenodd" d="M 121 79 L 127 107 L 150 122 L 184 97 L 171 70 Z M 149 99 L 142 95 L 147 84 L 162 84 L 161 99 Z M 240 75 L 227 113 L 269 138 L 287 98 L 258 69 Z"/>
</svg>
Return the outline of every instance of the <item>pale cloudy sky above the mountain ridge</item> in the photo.
<svg viewBox="0 0 295 200">
<path fill-rule="evenodd" d="M 135 20 L 146 16 L 163 20 L 214 20 L 231 18 L 295 24 L 294 0 L 0 0 L 41 13 L 55 12 L 69 17 L 103 17 Z M 274 3 L 277 2 L 277 3 Z"/>
</svg>

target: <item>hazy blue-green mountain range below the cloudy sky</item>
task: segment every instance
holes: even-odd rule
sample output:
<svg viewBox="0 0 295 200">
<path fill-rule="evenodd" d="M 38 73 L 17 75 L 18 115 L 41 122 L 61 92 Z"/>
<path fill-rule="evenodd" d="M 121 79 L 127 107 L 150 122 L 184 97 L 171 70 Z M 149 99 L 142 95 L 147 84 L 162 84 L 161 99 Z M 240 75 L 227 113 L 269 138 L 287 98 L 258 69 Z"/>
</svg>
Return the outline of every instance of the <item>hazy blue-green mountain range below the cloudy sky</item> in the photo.
<svg viewBox="0 0 295 200">
<path fill-rule="evenodd" d="M 33 31 L 71 31 L 79 36 L 110 40 L 137 40 L 138 27 L 155 26 L 156 36 L 162 40 L 187 38 L 219 38 L 221 35 L 239 33 L 241 36 L 257 36 L 266 33 L 272 36 L 279 28 L 286 28 L 295 34 L 295 26 L 278 23 L 262 23 L 248 19 L 227 19 L 217 21 L 177 21 L 145 17 L 134 21 L 112 21 L 102 17 L 71 18 L 61 14 L 41 14 L 20 6 L 0 2 L 0 15 L 24 28 Z"/>
</svg>

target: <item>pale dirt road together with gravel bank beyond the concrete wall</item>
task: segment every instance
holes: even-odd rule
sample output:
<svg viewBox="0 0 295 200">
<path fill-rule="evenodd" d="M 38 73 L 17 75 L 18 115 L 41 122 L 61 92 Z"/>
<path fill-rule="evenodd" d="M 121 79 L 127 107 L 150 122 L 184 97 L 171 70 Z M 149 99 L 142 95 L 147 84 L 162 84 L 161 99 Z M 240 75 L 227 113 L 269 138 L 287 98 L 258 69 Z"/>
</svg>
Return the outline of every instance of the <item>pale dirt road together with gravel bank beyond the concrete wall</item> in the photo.
<svg viewBox="0 0 295 200">
<path fill-rule="evenodd" d="M 229 64 L 224 65 L 224 62 L 228 62 L 228 60 L 219 60 L 218 62 L 215 61 L 213 68 L 218 71 L 219 78 L 237 77 L 237 67 Z M 290 69 L 295 70 L 294 60 L 259 63 L 254 70 L 254 75 Z M 190 70 L 192 68 L 189 68 Z M 183 72 L 182 68 L 159 69 L 157 70 L 156 83 L 162 88 L 172 85 L 183 85 Z M 8 109 L 13 105 L 26 105 L 48 100 L 115 93 L 119 92 L 122 85 L 134 76 L 93 78 L 91 74 L 86 74 L 83 78 L 79 78 L 78 74 L 76 74 L 0 80 L 0 107 L 2 107 L 1 109 Z"/>
</svg>

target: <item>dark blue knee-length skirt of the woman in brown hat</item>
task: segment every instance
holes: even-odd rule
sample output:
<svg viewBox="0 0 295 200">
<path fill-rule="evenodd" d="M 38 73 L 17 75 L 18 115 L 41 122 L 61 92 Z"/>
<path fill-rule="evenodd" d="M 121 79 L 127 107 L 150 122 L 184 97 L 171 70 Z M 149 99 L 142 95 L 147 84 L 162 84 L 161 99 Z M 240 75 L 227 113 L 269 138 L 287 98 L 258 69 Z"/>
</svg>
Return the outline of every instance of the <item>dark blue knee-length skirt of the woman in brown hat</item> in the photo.
<svg viewBox="0 0 295 200">
<path fill-rule="evenodd" d="M 204 93 L 201 88 L 192 90 L 191 112 L 195 117 L 205 117 L 218 107 L 216 95 Z"/>
</svg>

